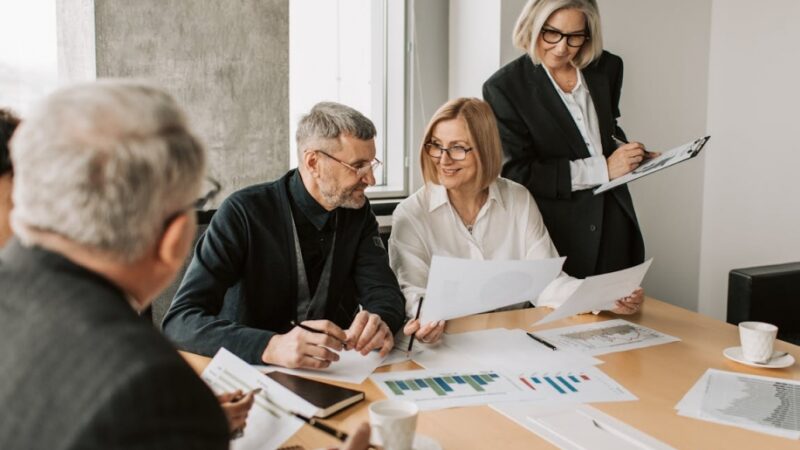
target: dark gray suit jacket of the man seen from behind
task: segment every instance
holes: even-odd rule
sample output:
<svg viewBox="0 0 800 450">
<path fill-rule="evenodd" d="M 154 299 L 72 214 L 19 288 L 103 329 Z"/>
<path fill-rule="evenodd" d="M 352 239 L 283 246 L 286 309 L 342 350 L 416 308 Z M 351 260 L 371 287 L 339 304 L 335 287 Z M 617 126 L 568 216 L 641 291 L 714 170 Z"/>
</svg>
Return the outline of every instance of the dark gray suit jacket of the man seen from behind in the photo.
<svg viewBox="0 0 800 450">
<path fill-rule="evenodd" d="M 0 252 L 0 448 L 223 449 L 225 417 L 123 293 L 62 256 Z"/>
</svg>

